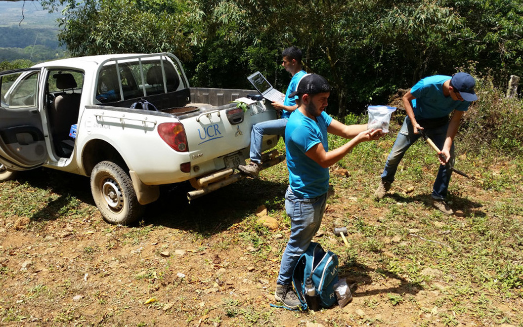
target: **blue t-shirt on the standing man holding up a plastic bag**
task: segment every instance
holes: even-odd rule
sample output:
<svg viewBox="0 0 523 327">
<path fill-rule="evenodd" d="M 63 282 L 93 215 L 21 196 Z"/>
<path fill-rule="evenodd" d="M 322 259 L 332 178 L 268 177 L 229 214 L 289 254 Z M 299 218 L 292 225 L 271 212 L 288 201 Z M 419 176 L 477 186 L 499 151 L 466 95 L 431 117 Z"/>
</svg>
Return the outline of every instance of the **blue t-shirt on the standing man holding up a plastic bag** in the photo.
<svg viewBox="0 0 523 327">
<path fill-rule="evenodd" d="M 305 155 L 306 151 L 318 143 L 328 151 L 327 127 L 331 124 L 332 117 L 323 111 L 316 120 L 317 122 L 295 110 L 285 129 L 289 184 L 292 192 L 302 198 L 317 197 L 328 191 L 328 168 L 323 168 Z"/>
</svg>

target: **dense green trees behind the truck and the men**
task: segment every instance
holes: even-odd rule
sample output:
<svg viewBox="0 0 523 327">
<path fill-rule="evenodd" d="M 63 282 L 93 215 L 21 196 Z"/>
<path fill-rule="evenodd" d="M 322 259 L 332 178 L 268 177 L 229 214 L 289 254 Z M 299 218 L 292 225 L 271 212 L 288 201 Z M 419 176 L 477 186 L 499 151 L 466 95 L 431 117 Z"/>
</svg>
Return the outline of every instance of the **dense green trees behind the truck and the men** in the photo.
<svg viewBox="0 0 523 327">
<path fill-rule="evenodd" d="M 191 83 L 250 87 L 263 72 L 285 89 L 281 51 L 334 87 L 338 116 L 383 104 L 398 88 L 475 62 L 505 85 L 523 73 L 522 0 L 44 0 L 67 4 L 59 38 L 74 55 L 173 52 Z"/>
</svg>

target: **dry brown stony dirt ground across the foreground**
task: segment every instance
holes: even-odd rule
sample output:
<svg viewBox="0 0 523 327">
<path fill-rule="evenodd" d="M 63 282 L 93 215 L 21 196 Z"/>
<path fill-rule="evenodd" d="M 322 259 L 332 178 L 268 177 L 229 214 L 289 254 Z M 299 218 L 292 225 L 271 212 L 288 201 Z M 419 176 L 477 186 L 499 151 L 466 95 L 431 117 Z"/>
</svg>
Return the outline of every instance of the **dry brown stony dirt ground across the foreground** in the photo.
<svg viewBox="0 0 523 327">
<path fill-rule="evenodd" d="M 333 171 L 339 179 L 349 173 Z M 443 268 L 427 270 L 430 287 L 420 287 L 403 276 L 380 273 L 378 257 L 368 263 L 350 260 L 353 252 L 344 249 L 331 227 L 344 217 L 380 224 L 383 207 L 373 205 L 370 191 L 357 189 L 367 186 L 345 189 L 335 183 L 324 228 L 315 238 L 338 253 L 340 277 L 347 276 L 353 301 L 344 308 L 293 312 L 270 306 L 276 304 L 275 281 L 289 236 L 282 202 L 286 177 L 264 179 L 262 172 L 259 180 L 242 180 L 191 204 L 183 188 L 162 190 L 146 218 L 131 227 L 103 221 L 86 178 L 42 169 L 9 183 L 3 187 L 25 185 L 23 195 L 7 199 L 13 206 L 37 203 L 27 215 L 0 217 L 0 325 L 481 326 L 492 321 L 439 300 L 456 287 Z M 47 200 L 31 197 L 41 190 Z M 469 191 L 481 203 L 492 196 Z M 425 198 L 417 193 L 410 195 L 414 203 L 398 205 L 423 207 Z M 270 228 L 259 220 L 263 216 L 272 218 L 266 219 Z M 456 219 L 465 218 L 458 213 Z M 348 238 L 354 243 L 365 236 Z M 380 255 L 396 256 L 386 244 L 408 247 L 420 240 L 404 235 L 380 241 L 385 244 Z M 521 324 L 521 297 L 492 301 L 512 325 Z"/>
</svg>

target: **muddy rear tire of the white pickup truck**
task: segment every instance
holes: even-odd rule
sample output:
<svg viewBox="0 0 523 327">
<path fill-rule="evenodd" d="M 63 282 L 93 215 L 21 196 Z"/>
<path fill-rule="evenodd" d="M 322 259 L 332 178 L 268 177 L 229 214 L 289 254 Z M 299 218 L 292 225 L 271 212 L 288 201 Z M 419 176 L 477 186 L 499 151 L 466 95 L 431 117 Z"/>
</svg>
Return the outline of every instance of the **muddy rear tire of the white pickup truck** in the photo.
<svg viewBox="0 0 523 327">
<path fill-rule="evenodd" d="M 138 202 L 129 175 L 112 161 L 99 162 L 91 173 L 91 192 L 104 219 L 113 225 L 130 225 L 145 207 Z"/>
</svg>

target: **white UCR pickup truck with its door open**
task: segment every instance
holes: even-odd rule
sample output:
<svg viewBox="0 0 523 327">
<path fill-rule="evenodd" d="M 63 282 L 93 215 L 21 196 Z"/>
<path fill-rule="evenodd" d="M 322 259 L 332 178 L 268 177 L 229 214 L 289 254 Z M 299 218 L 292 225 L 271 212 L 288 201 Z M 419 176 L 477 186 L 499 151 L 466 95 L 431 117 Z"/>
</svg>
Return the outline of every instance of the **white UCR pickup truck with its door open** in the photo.
<svg viewBox="0 0 523 327">
<path fill-rule="evenodd" d="M 192 198 L 242 179 L 253 124 L 277 118 L 249 90 L 190 88 L 169 53 L 77 57 L 0 73 L 0 181 L 44 166 L 90 176 L 111 224 L 130 224 L 159 185 Z M 131 109 L 145 99 L 154 106 Z M 140 106 L 138 106 L 140 107 Z M 265 136 L 263 150 L 278 136 Z M 263 168 L 282 161 L 276 150 Z"/>
</svg>

